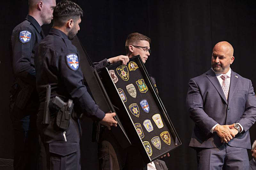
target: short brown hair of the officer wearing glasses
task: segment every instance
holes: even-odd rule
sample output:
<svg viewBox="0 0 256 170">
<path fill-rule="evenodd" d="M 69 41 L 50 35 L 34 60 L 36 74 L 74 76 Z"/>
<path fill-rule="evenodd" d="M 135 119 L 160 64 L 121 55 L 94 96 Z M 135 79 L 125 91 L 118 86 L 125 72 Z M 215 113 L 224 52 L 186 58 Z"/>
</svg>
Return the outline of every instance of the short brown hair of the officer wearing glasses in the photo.
<svg viewBox="0 0 256 170">
<path fill-rule="evenodd" d="M 129 45 L 137 45 L 139 41 L 148 41 L 149 43 L 151 42 L 150 38 L 148 38 L 146 35 L 143 35 L 141 33 L 131 33 L 127 36 L 126 42 L 125 42 L 125 47 L 126 47 L 126 54 L 129 52 Z"/>
</svg>

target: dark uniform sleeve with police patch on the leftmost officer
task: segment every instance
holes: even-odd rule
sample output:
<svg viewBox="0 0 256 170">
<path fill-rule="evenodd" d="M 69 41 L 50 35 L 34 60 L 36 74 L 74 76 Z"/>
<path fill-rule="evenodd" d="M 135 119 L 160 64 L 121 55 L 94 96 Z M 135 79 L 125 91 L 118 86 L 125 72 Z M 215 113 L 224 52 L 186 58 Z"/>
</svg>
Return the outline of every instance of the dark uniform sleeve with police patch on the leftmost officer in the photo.
<svg viewBox="0 0 256 170">
<path fill-rule="evenodd" d="M 27 31 L 28 35 L 24 38 L 22 31 Z M 31 33 L 31 35 L 29 35 Z M 29 27 L 20 29 L 18 32 L 13 32 L 11 37 L 12 50 L 12 70 L 16 77 L 21 78 L 28 84 L 35 85 L 36 71 L 31 66 L 32 49 L 35 44 L 35 35 Z"/>
</svg>

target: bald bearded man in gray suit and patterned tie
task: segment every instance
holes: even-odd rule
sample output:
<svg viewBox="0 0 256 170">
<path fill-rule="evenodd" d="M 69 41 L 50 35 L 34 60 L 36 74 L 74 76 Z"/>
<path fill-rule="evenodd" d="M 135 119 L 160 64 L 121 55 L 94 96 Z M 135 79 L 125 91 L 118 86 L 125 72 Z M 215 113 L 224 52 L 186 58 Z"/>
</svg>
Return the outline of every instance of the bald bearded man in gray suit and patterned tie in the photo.
<svg viewBox="0 0 256 170">
<path fill-rule="evenodd" d="M 230 68 L 234 49 L 226 41 L 212 50 L 212 68 L 191 78 L 186 99 L 195 127 L 190 147 L 198 169 L 249 169 L 249 129 L 256 120 L 252 82 Z"/>
</svg>

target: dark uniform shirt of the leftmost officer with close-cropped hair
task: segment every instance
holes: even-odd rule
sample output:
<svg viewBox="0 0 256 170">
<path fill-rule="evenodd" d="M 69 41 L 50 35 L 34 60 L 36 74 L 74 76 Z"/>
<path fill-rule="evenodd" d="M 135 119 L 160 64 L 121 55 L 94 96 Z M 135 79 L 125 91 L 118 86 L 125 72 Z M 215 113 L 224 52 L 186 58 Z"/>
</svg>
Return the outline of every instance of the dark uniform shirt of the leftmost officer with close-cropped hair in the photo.
<svg viewBox="0 0 256 170">
<path fill-rule="evenodd" d="M 30 15 L 12 31 L 10 50 L 14 76 L 33 86 L 36 86 L 35 51 L 43 38 L 41 26 Z"/>
</svg>

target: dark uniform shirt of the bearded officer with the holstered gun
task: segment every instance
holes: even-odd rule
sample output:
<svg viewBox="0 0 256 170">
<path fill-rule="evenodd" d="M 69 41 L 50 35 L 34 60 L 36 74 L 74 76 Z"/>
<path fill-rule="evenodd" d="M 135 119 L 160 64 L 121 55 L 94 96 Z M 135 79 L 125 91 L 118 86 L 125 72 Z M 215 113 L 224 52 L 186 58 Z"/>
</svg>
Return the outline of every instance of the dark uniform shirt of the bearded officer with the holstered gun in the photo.
<svg viewBox="0 0 256 170">
<path fill-rule="evenodd" d="M 104 118 L 105 113 L 83 84 L 78 51 L 65 33 L 51 28 L 38 46 L 36 56 L 36 88 L 41 102 L 45 101 L 45 87 L 51 85 L 51 97 L 72 99 L 76 113 L 85 113 L 96 121 Z"/>
</svg>

